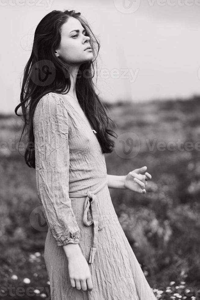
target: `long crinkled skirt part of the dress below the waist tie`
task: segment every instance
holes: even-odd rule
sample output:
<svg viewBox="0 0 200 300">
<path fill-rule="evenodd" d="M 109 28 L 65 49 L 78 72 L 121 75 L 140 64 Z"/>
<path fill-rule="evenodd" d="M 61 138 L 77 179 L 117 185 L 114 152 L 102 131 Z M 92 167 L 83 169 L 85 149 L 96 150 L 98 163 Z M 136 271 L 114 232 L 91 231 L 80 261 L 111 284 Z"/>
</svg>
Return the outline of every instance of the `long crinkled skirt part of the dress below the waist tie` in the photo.
<svg viewBox="0 0 200 300">
<path fill-rule="evenodd" d="M 87 190 L 82 193 L 87 193 Z M 86 226 L 83 223 L 86 197 L 70 197 L 80 228 L 79 246 L 90 268 L 93 289 L 82 291 L 71 286 L 65 251 L 62 246 L 57 246 L 49 229 L 44 259 L 51 300 L 156 300 L 118 221 L 108 185 L 95 196 L 105 226 L 98 230 L 98 245 L 92 263 L 89 260 L 94 239 L 93 224 Z"/>
</svg>

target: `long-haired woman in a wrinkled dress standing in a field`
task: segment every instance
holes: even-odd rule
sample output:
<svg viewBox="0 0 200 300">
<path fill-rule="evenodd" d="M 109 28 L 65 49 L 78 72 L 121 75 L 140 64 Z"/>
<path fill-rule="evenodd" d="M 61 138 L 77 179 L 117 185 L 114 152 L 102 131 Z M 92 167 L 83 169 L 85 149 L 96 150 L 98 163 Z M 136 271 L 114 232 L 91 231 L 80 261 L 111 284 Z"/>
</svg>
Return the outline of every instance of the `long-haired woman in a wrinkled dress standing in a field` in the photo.
<svg viewBox="0 0 200 300">
<path fill-rule="evenodd" d="M 80 13 L 48 13 L 35 30 L 15 109 L 22 106 L 28 126 L 25 161 L 35 168 L 49 226 L 44 258 L 51 300 L 156 299 L 109 194 L 109 188 L 146 193 L 151 175 L 140 174 L 146 166 L 107 175 L 104 153 L 113 151 L 114 131 L 94 91 L 96 46 L 98 55 Z"/>
</svg>

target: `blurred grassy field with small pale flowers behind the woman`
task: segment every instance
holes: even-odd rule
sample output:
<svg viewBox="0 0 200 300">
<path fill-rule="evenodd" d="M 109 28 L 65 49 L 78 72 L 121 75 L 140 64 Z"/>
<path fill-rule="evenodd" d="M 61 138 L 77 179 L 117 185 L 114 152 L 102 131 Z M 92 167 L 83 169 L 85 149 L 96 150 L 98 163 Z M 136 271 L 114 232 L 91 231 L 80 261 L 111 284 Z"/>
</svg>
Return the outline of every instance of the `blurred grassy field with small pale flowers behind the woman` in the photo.
<svg viewBox="0 0 200 300">
<path fill-rule="evenodd" d="M 139 138 L 139 151 L 132 158 L 124 155 L 120 143 L 105 154 L 107 173 L 125 175 L 147 166 L 152 175 L 146 194 L 110 189 L 146 279 L 158 299 L 199 300 L 200 98 L 107 106 L 118 137 L 133 133 Z M 0 116 L 0 298 L 49 300 L 43 254 L 47 232 L 38 231 L 30 221 L 39 202 L 35 169 L 16 150 L 20 122 L 15 115 Z M 159 142 L 165 142 L 162 150 Z"/>
</svg>

